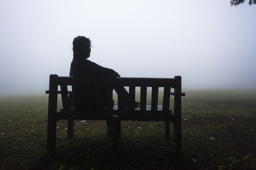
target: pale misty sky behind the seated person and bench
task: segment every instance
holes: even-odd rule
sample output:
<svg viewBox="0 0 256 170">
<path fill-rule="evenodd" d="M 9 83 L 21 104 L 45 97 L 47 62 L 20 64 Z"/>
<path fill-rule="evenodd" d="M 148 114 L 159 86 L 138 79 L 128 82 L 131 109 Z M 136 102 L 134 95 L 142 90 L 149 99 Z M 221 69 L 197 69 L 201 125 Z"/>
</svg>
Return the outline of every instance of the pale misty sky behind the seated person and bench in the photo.
<svg viewBox="0 0 256 170">
<path fill-rule="evenodd" d="M 0 0 L 0 94 L 68 76 L 72 41 L 122 77 L 182 76 L 183 89 L 256 88 L 256 5 L 246 0 Z"/>
</svg>

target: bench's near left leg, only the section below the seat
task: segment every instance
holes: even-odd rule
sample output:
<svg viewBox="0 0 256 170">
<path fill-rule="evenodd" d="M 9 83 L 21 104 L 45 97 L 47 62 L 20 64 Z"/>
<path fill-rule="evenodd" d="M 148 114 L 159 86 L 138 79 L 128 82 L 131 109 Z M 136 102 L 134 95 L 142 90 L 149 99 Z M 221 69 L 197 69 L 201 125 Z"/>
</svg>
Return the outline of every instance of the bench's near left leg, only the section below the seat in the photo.
<svg viewBox="0 0 256 170">
<path fill-rule="evenodd" d="M 48 120 L 47 123 L 47 152 L 56 150 L 56 120 Z"/>
</svg>

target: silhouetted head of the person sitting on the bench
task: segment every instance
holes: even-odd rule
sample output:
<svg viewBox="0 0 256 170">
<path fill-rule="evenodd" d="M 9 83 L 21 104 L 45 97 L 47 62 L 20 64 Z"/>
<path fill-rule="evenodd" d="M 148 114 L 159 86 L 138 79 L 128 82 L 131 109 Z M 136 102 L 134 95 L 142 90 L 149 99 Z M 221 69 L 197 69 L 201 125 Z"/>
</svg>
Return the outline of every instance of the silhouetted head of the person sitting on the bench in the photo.
<svg viewBox="0 0 256 170">
<path fill-rule="evenodd" d="M 73 40 L 73 53 L 78 58 L 88 58 L 91 54 L 90 38 L 85 36 L 77 36 Z"/>
</svg>

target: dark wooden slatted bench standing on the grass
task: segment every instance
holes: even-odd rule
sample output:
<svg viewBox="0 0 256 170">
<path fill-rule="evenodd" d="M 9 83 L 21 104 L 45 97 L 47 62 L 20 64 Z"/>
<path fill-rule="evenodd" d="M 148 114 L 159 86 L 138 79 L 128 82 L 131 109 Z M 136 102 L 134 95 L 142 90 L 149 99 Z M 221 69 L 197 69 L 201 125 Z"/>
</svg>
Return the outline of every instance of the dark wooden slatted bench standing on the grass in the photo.
<svg viewBox="0 0 256 170">
<path fill-rule="evenodd" d="M 68 91 L 68 86 L 72 91 Z M 78 89 L 78 85 L 80 90 Z M 58 91 L 60 86 L 60 91 Z M 113 87 L 129 87 L 129 106 L 124 106 L 123 94 L 118 94 L 118 105 L 113 107 Z M 91 108 L 90 89 L 95 90 L 95 109 Z M 102 108 L 102 87 L 107 93 L 107 107 Z M 140 106 L 135 107 L 136 87 L 140 87 Z M 152 87 L 151 105 L 147 106 L 147 87 Z M 158 88 L 163 87 L 163 102 L 158 105 Z M 174 93 L 171 93 L 174 88 Z M 75 90 L 76 89 L 76 90 Z M 175 153 L 181 154 L 181 77 L 175 78 L 78 78 L 50 75 L 47 124 L 47 152 L 56 149 L 56 124 L 60 119 L 68 120 L 68 137 L 73 136 L 74 119 L 112 120 L 114 122 L 113 146 L 118 146 L 120 120 L 164 121 L 168 139 L 170 122 L 174 124 Z M 63 108 L 57 110 L 58 94 Z M 170 95 L 174 95 L 174 113 L 170 109 Z M 81 110 L 81 96 L 83 109 Z"/>
</svg>

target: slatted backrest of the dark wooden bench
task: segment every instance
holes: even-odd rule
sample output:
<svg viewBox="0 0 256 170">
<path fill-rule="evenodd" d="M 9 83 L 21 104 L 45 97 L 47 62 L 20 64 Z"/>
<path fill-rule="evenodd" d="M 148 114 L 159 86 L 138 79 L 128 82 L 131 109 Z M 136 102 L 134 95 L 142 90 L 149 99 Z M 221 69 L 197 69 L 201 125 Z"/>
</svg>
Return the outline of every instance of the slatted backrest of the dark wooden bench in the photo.
<svg viewBox="0 0 256 170">
<path fill-rule="evenodd" d="M 78 77 L 60 77 L 50 75 L 49 95 L 53 96 L 51 100 L 57 104 L 58 86 L 61 90 L 61 99 L 64 110 L 70 109 L 71 98 L 69 98 L 68 85 L 72 86 L 74 109 L 91 110 L 92 103 L 96 106 L 94 109 L 102 109 L 102 88 L 107 96 L 107 110 L 113 109 L 113 87 L 129 87 L 129 110 L 135 110 L 135 89 L 140 87 L 140 110 L 146 110 L 147 87 L 152 87 L 151 110 L 157 111 L 158 108 L 158 88 L 163 87 L 162 110 L 169 110 L 171 88 L 174 88 L 174 106 L 175 112 L 180 110 L 181 96 L 181 77 L 175 78 L 78 78 Z M 94 98 L 92 99 L 92 90 Z M 50 102 L 49 96 L 49 102 Z M 123 93 L 118 94 L 118 110 L 124 109 Z M 83 105 L 83 106 L 81 106 Z M 178 109 L 178 110 L 177 110 Z"/>
</svg>

